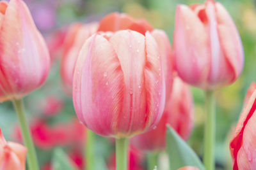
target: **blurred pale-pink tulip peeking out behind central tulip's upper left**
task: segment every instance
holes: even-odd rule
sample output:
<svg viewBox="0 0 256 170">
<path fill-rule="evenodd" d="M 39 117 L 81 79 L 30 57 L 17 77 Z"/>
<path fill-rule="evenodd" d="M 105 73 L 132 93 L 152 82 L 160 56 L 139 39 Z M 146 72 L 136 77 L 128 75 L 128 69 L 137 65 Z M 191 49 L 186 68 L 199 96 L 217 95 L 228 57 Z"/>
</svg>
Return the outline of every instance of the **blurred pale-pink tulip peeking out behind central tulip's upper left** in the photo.
<svg viewBox="0 0 256 170">
<path fill-rule="evenodd" d="M 63 55 L 61 57 L 61 79 L 67 94 L 72 94 L 72 81 L 74 67 L 79 50 L 86 39 L 94 34 L 98 29 L 97 23 L 81 24 L 76 23 L 70 26 L 63 45 Z"/>
</svg>

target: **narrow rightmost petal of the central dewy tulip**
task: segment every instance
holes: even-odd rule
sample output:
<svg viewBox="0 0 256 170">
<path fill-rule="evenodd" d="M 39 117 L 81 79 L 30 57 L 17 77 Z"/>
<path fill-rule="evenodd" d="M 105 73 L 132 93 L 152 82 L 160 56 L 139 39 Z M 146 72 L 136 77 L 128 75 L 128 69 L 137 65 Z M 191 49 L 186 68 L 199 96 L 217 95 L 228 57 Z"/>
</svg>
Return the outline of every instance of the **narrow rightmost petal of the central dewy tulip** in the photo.
<svg viewBox="0 0 256 170">
<path fill-rule="evenodd" d="M 166 98 L 163 60 L 154 37 L 147 31 L 146 63 L 145 63 L 145 90 L 147 100 L 147 124 L 145 129 L 152 129 L 163 115 Z"/>
</svg>

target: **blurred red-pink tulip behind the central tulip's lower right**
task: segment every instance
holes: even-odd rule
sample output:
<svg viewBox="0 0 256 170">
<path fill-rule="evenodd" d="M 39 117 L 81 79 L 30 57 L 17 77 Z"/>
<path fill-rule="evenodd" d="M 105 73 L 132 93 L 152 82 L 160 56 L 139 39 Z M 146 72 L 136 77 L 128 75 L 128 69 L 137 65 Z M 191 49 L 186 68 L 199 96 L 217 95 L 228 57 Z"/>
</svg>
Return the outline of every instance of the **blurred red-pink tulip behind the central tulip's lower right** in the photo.
<svg viewBox="0 0 256 170">
<path fill-rule="evenodd" d="M 132 138 L 132 144 L 141 150 L 164 149 L 166 125 L 172 126 L 184 140 L 188 139 L 193 127 L 193 113 L 191 91 L 188 85 L 176 77 L 173 81 L 172 94 L 166 103 L 163 117 L 159 124 L 153 130 Z"/>
</svg>

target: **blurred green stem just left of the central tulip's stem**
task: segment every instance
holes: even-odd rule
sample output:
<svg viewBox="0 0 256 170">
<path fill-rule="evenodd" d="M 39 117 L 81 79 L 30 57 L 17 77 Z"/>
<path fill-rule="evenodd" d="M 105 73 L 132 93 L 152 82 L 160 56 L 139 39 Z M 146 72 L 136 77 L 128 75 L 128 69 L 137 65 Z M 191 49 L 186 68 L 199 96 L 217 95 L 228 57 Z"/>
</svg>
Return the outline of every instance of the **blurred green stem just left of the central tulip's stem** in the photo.
<svg viewBox="0 0 256 170">
<path fill-rule="evenodd" d="M 86 132 L 86 147 L 84 149 L 84 162 L 86 162 L 86 166 L 84 169 L 86 170 L 94 170 L 95 169 L 95 145 L 94 145 L 94 133 L 87 129 Z"/>
</svg>

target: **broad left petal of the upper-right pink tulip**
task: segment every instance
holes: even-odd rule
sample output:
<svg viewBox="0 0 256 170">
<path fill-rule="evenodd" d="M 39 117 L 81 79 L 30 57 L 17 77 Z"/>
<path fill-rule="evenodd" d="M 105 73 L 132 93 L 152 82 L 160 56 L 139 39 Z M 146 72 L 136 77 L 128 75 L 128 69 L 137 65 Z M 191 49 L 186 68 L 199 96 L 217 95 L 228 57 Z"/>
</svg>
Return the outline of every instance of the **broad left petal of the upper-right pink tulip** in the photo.
<svg viewBox="0 0 256 170">
<path fill-rule="evenodd" d="M 179 5 L 175 15 L 173 49 L 179 76 L 204 87 L 210 67 L 209 38 L 204 23 L 188 6 Z"/>
</svg>

